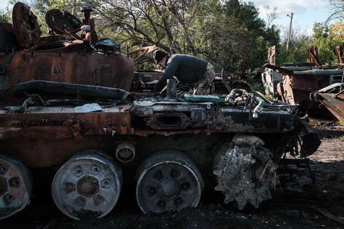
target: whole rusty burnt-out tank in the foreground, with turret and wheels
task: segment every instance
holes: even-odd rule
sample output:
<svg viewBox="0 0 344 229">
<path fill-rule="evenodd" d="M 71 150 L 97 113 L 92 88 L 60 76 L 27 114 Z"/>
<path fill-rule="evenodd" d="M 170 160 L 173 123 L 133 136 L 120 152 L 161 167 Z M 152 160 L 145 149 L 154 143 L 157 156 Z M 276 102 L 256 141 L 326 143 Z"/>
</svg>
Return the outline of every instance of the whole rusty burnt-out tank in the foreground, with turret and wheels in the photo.
<svg viewBox="0 0 344 229">
<path fill-rule="evenodd" d="M 126 183 L 135 184 L 144 213 L 196 207 L 205 187 L 239 209 L 258 207 L 271 198 L 285 153 L 306 157 L 317 149 L 314 134 L 300 134 L 295 106 L 259 92 L 227 85 L 222 96 L 191 95 L 178 92 L 175 80 L 164 96 L 128 92 L 132 61 L 115 42 L 97 41 L 84 12 L 80 23 L 48 11 L 47 22 L 61 27 L 38 39 L 32 11 L 13 7 L 22 48 L 3 48 L 1 57 L 0 219 L 30 203 L 38 167 L 55 169 L 53 199 L 72 219 L 107 215 Z"/>
</svg>

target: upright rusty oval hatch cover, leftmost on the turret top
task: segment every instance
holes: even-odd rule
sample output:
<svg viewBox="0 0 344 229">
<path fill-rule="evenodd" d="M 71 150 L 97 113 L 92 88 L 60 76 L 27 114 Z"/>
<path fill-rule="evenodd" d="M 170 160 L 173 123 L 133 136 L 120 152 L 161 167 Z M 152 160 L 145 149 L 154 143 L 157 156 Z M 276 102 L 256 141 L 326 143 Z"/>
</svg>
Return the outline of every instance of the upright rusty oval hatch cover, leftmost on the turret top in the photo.
<svg viewBox="0 0 344 229">
<path fill-rule="evenodd" d="M 29 47 L 38 43 L 42 31 L 36 15 L 29 6 L 21 2 L 15 3 L 12 9 L 12 23 L 15 36 L 21 46 Z"/>
</svg>

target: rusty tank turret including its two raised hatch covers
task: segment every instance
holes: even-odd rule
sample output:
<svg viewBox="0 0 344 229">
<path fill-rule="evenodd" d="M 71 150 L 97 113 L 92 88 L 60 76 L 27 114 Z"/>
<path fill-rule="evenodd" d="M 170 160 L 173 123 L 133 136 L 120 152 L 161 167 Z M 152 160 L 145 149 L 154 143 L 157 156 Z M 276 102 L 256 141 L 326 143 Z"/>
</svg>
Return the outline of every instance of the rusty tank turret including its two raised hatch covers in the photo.
<svg viewBox="0 0 344 229">
<path fill-rule="evenodd" d="M 16 84 L 31 80 L 95 85 L 129 91 L 134 64 L 123 53 L 96 51 L 90 43 L 71 33 L 80 30 L 81 22 L 68 12 L 51 10 L 47 21 L 56 36 L 41 38 L 41 31 L 27 5 L 13 7 L 13 28 L 19 43 L 27 49 L 14 53 L 0 80 L 1 102 L 16 103 Z M 31 24 L 30 24 L 31 23 Z M 30 26 L 29 26 L 30 25 Z M 8 55 L 0 57 L 4 62 Z M 3 74 L 3 73 L 2 73 Z"/>
</svg>

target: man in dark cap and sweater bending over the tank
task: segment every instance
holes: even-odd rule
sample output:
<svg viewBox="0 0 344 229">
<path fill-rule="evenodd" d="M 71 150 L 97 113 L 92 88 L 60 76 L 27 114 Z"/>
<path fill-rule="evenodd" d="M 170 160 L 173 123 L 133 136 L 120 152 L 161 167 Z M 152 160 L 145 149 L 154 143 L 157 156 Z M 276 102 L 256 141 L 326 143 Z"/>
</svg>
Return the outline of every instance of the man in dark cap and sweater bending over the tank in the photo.
<svg viewBox="0 0 344 229">
<path fill-rule="evenodd" d="M 208 61 L 191 55 L 173 54 L 156 50 L 153 58 L 157 65 L 165 69 L 163 77 L 155 86 L 154 93 L 159 94 L 173 76 L 181 83 L 194 84 L 193 94 L 209 94 L 215 77 L 214 67 Z"/>
</svg>

